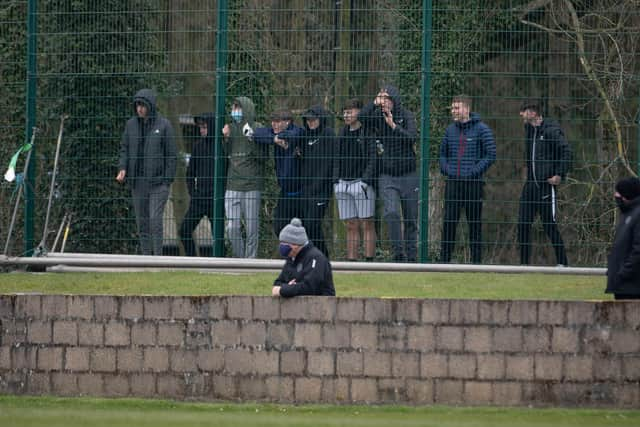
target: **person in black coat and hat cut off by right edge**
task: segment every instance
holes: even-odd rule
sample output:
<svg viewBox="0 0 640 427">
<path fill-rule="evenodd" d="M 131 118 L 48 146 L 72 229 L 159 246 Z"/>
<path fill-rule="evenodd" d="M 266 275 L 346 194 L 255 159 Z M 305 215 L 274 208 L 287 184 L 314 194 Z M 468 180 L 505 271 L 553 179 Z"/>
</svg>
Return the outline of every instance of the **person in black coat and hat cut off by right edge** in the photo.
<svg viewBox="0 0 640 427">
<path fill-rule="evenodd" d="M 640 299 L 640 180 L 622 179 L 615 190 L 620 219 L 609 252 L 605 292 L 615 299 Z"/>
</svg>

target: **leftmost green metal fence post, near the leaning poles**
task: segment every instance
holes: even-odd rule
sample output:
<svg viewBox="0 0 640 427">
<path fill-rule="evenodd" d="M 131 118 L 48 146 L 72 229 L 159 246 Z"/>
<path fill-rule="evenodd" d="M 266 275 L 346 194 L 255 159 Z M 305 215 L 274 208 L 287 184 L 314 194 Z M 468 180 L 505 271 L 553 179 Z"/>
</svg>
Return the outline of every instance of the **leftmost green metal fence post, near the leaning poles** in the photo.
<svg viewBox="0 0 640 427">
<path fill-rule="evenodd" d="M 27 93 L 25 143 L 31 141 L 31 133 L 36 125 L 36 81 L 37 81 L 37 0 L 29 0 L 27 6 Z M 36 173 L 36 145 L 31 147 L 31 161 L 24 176 L 24 255 L 33 254 L 34 182 Z"/>
</svg>

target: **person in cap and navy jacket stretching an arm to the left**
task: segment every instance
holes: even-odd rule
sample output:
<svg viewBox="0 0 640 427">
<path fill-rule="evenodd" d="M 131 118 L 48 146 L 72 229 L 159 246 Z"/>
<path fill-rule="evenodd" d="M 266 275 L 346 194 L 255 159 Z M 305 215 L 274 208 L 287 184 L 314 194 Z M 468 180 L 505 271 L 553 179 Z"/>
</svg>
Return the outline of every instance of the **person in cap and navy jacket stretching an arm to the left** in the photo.
<svg viewBox="0 0 640 427">
<path fill-rule="evenodd" d="M 304 213 L 300 177 L 302 159 L 298 146 L 302 131 L 293 122 L 291 111 L 277 110 L 271 114 L 271 127 L 257 128 L 253 133 L 256 143 L 273 145 L 276 177 L 280 186 L 278 204 L 273 213 L 273 232 L 276 236 L 291 218 L 301 218 Z"/>
</svg>

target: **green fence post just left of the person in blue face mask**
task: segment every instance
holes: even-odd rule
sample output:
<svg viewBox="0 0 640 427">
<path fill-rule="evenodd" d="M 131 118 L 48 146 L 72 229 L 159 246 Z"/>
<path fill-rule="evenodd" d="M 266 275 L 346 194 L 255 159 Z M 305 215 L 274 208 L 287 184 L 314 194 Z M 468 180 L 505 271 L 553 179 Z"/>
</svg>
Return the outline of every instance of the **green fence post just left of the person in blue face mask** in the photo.
<svg viewBox="0 0 640 427">
<path fill-rule="evenodd" d="M 213 178 L 213 256 L 224 256 L 224 152 L 222 149 L 222 128 L 225 118 L 225 97 L 227 93 L 227 27 L 228 5 L 226 0 L 218 1 L 218 22 L 216 32 L 216 134 L 215 134 L 215 176 Z"/>
</svg>

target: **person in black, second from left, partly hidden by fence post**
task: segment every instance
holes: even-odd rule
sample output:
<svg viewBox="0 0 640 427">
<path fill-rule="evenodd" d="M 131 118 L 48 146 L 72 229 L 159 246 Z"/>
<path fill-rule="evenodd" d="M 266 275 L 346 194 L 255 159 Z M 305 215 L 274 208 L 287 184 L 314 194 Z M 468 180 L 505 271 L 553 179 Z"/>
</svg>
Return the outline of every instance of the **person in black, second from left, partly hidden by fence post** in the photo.
<svg viewBox="0 0 640 427">
<path fill-rule="evenodd" d="M 203 216 L 206 216 L 213 227 L 213 191 L 215 177 L 215 115 L 204 113 L 195 118 L 200 131 L 200 138 L 191 150 L 191 158 L 187 167 L 187 190 L 191 200 L 189 209 L 180 225 L 180 240 L 187 256 L 196 256 L 193 242 L 193 231 Z M 221 178 L 224 172 L 218 174 Z"/>
</svg>

